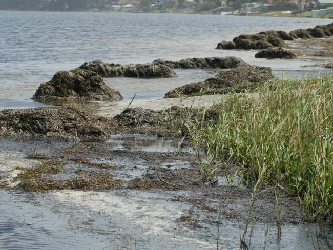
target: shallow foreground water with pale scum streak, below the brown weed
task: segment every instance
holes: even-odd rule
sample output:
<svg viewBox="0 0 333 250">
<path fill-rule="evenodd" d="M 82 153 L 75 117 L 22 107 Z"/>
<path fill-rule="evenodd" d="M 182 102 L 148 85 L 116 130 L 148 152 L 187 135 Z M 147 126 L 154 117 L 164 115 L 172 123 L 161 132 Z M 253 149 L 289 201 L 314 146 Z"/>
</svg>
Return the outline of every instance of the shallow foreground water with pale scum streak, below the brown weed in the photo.
<svg viewBox="0 0 333 250">
<path fill-rule="evenodd" d="M 1 249 L 216 249 L 216 223 L 194 230 L 177 219 L 191 209 L 169 194 L 60 191 L 19 194 L 0 191 Z M 242 223 L 222 221 L 220 248 L 239 249 Z M 264 245 L 258 222 L 253 249 Z M 267 249 L 314 249 L 316 228 L 282 226 L 281 242 L 269 228 Z M 327 249 L 322 246 L 322 249 Z"/>
</svg>

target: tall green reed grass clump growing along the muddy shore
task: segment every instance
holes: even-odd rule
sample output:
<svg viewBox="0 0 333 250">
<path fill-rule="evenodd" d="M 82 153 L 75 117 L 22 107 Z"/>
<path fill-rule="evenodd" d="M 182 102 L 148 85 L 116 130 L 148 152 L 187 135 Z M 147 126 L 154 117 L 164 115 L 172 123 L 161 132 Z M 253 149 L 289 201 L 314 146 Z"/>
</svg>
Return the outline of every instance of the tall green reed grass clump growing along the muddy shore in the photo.
<svg viewBox="0 0 333 250">
<path fill-rule="evenodd" d="M 286 186 L 307 220 L 332 224 L 333 77 L 277 80 L 255 92 L 182 115 L 186 135 L 205 149 L 204 180 L 236 159 L 243 178 Z M 215 116 L 205 119 L 212 109 Z"/>
</svg>

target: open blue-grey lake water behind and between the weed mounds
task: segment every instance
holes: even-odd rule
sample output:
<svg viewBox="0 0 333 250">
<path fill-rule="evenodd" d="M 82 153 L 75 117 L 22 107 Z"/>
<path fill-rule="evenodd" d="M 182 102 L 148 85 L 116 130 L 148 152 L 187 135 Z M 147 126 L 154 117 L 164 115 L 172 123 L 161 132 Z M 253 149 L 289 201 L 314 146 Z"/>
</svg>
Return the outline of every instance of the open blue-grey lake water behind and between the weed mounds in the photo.
<svg viewBox="0 0 333 250">
<path fill-rule="evenodd" d="M 329 19 L 214 15 L 0 11 L 0 109 L 41 106 L 30 100 L 41 82 L 85 61 L 145 63 L 156 58 L 235 55 L 251 64 L 254 51 L 215 50 L 241 33 L 314 27 Z M 304 62 L 270 60 L 274 70 L 300 70 Z M 161 98 L 174 87 L 211 72 L 180 71 L 176 79 L 108 79 L 131 98 Z M 281 74 L 281 72 L 278 72 Z M 287 73 L 286 73 L 287 74 Z"/>
</svg>

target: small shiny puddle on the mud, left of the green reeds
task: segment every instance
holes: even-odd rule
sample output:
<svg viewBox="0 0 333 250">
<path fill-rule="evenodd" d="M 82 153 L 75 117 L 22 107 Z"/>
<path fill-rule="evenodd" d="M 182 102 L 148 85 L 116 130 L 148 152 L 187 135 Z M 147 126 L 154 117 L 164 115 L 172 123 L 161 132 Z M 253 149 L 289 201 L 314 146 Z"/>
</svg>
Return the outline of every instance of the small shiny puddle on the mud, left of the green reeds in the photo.
<svg viewBox="0 0 333 250">
<path fill-rule="evenodd" d="M 179 147 L 178 141 L 165 140 L 156 136 L 113 135 L 108 140 L 114 150 L 139 150 L 144 152 L 186 152 L 194 153 L 191 147 Z"/>
</svg>

